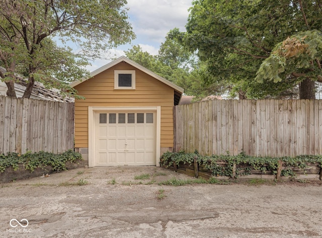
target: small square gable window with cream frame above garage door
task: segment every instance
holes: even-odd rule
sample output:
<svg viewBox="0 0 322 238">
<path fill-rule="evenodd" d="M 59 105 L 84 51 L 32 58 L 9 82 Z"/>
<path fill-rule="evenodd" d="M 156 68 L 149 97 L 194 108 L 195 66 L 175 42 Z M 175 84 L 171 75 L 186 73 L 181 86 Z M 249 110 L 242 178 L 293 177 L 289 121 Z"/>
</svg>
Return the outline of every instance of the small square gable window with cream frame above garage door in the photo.
<svg viewBox="0 0 322 238">
<path fill-rule="evenodd" d="M 114 89 L 135 89 L 135 70 L 114 70 Z"/>
</svg>

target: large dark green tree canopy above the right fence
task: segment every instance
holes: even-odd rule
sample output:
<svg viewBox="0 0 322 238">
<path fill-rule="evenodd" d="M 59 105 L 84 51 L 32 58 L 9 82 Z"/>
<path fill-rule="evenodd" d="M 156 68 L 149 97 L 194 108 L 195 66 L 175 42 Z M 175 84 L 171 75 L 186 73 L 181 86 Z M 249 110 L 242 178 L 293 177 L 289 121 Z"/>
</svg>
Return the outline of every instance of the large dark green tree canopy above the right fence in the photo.
<svg viewBox="0 0 322 238">
<path fill-rule="evenodd" d="M 206 63 L 206 71 L 212 75 L 207 77 L 208 83 L 229 82 L 234 92 L 251 98 L 276 96 L 292 90 L 303 78 L 289 78 L 285 73 L 278 83 L 260 83 L 255 80 L 258 69 L 287 37 L 321 31 L 321 13 L 319 0 L 196 0 L 190 9 L 187 32 L 176 31 L 172 37 L 186 49 L 196 51 Z"/>
</svg>

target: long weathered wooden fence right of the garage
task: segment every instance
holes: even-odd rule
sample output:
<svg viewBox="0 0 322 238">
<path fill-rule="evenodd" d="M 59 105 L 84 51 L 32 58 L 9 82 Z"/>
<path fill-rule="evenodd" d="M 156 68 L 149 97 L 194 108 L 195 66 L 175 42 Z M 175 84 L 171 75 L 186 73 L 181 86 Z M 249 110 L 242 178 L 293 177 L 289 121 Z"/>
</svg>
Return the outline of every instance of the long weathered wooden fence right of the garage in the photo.
<svg viewBox="0 0 322 238">
<path fill-rule="evenodd" d="M 322 154 L 322 100 L 213 100 L 174 108 L 174 150 Z"/>
</svg>

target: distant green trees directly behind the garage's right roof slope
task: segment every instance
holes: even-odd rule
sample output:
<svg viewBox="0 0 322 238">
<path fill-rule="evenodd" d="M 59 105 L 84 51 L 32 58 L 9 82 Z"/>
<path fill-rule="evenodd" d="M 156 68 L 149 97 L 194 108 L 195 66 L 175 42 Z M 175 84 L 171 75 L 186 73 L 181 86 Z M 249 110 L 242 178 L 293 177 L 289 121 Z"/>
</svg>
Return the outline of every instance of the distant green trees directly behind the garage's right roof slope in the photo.
<svg viewBox="0 0 322 238">
<path fill-rule="evenodd" d="M 197 59 L 195 54 L 186 50 L 178 40 L 171 38 L 171 30 L 160 45 L 157 55 L 143 52 L 137 45 L 125 52 L 126 57 L 182 87 L 187 95 L 193 95 L 196 100 L 208 95 L 220 95 L 225 89 L 220 83 L 206 87 L 201 76 L 206 77 L 205 64 Z"/>
</svg>

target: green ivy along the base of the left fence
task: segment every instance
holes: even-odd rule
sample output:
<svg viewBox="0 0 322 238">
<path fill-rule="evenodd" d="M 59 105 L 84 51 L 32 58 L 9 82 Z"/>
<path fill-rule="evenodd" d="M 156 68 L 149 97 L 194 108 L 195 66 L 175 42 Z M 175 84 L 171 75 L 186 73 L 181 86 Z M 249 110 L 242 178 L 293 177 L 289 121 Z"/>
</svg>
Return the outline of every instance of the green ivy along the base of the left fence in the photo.
<svg viewBox="0 0 322 238">
<path fill-rule="evenodd" d="M 27 151 L 20 155 L 15 152 L 8 152 L 7 155 L 0 155 L 0 173 L 3 173 L 9 166 L 12 166 L 13 170 L 16 171 L 19 169 L 19 164 L 23 164 L 24 168 L 31 172 L 36 168 L 45 166 L 51 166 L 53 171 L 63 171 L 66 170 L 66 162 L 76 163 L 79 160 L 83 160 L 82 155 L 72 150 L 60 154 Z"/>
</svg>

